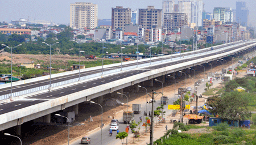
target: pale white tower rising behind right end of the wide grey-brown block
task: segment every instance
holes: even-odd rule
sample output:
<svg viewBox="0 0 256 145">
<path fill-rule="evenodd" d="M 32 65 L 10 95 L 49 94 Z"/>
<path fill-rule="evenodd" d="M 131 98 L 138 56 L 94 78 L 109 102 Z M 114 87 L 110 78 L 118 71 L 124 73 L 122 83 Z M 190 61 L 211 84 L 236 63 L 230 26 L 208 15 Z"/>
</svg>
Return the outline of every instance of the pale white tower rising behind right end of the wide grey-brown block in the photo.
<svg viewBox="0 0 256 145">
<path fill-rule="evenodd" d="M 190 1 L 179 1 L 178 12 L 187 14 L 188 23 L 191 23 L 191 2 Z"/>
</svg>

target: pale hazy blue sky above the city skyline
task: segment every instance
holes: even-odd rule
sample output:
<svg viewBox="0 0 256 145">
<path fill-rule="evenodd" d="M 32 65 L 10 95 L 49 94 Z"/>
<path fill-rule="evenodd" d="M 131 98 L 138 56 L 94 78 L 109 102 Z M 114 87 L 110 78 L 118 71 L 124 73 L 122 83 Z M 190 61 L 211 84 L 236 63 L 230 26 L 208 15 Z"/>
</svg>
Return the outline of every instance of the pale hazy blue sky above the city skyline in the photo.
<svg viewBox="0 0 256 145">
<path fill-rule="evenodd" d="M 177 0 L 175 0 L 177 3 Z M 214 7 L 236 9 L 238 0 L 203 0 L 205 11 L 213 12 Z M 256 27 L 256 1 L 244 0 L 249 8 L 250 22 Z M 132 10 L 155 6 L 162 8 L 162 0 L 0 0 L 0 22 L 18 20 L 47 20 L 60 24 L 69 23 L 69 6 L 75 2 L 92 2 L 98 5 L 98 19 L 111 19 L 112 7 L 123 6 Z"/>
</svg>

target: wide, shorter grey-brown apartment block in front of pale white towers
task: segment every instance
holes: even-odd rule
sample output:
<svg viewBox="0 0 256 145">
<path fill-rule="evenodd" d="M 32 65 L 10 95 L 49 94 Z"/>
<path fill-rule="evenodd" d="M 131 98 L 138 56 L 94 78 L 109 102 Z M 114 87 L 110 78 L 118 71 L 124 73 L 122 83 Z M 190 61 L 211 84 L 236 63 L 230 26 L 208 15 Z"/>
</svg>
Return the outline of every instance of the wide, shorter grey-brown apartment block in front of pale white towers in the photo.
<svg viewBox="0 0 256 145">
<path fill-rule="evenodd" d="M 178 12 L 172 12 L 172 13 L 164 13 L 164 23 L 163 27 L 167 28 L 167 30 L 174 31 L 176 28 L 183 27 L 184 25 L 187 25 L 188 17 L 185 13 L 178 13 Z"/>
</svg>

